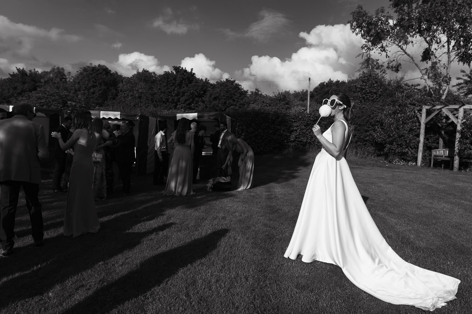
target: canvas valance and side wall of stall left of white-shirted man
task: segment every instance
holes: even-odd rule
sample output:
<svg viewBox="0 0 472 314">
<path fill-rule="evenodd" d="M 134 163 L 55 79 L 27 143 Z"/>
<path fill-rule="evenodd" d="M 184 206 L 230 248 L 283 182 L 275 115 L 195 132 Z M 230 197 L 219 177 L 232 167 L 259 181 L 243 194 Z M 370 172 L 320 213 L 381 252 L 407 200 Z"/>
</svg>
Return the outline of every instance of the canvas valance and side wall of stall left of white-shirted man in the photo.
<svg viewBox="0 0 472 314">
<path fill-rule="evenodd" d="M 154 136 L 156 118 L 140 113 L 122 113 L 116 111 L 91 111 L 92 117 L 99 117 L 111 124 L 119 125 L 124 121 L 133 121 L 135 135 L 136 174 L 143 175 L 154 171 Z"/>
</svg>

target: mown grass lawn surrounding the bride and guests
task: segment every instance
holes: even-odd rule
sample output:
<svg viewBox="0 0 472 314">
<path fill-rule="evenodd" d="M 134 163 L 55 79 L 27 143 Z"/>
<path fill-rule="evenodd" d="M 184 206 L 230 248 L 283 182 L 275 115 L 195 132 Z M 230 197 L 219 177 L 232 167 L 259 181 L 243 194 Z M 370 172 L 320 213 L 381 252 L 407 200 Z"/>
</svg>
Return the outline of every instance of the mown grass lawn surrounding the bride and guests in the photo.
<svg viewBox="0 0 472 314">
<path fill-rule="evenodd" d="M 163 196 L 152 174 L 97 202 L 101 230 L 62 235 L 66 195 L 40 186 L 45 245 L 17 210 L 16 253 L 0 259 L 0 313 L 424 313 L 363 292 L 338 266 L 283 257 L 315 153 L 256 156 L 254 188 Z M 349 158 L 389 245 L 460 279 L 434 313 L 472 312 L 472 174 Z M 117 192 L 121 187 L 116 187 Z M 20 196 L 20 198 L 23 198 Z"/>
</svg>

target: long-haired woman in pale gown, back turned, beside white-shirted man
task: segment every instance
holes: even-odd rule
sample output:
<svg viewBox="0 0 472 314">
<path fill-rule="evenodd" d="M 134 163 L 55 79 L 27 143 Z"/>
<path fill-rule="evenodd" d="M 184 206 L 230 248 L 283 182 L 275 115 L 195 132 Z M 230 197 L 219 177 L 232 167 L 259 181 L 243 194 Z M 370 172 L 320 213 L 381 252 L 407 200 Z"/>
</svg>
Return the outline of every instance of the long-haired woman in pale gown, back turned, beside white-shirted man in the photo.
<svg viewBox="0 0 472 314">
<path fill-rule="evenodd" d="M 192 191 L 194 132 L 190 131 L 187 118 L 181 118 L 177 130 L 172 133 L 169 143 L 176 149 L 170 161 L 164 195 L 189 195 Z"/>
</svg>

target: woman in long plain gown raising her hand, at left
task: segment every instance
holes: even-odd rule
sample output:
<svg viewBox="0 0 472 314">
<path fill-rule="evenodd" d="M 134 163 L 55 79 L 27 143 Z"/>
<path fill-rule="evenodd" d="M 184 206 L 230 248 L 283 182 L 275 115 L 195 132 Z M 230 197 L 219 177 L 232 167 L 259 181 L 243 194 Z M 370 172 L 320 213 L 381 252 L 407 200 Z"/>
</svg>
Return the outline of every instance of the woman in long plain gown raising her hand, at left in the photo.
<svg viewBox="0 0 472 314">
<path fill-rule="evenodd" d="M 93 200 L 92 153 L 96 144 L 95 134 L 90 130 L 92 114 L 80 109 L 74 114 L 75 131 L 64 143 L 60 133 L 51 135 L 59 139 L 62 150 L 74 149 L 74 159 L 70 170 L 67 204 L 64 212 L 64 235 L 77 237 L 81 234 L 96 233 L 100 229 L 95 202 Z"/>
</svg>

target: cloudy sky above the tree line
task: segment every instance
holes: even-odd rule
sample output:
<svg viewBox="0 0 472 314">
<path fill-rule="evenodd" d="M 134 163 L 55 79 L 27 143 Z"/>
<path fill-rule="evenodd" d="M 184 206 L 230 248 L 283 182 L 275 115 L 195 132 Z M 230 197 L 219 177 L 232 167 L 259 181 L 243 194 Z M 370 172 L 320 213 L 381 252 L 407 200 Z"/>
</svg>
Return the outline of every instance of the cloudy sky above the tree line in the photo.
<svg viewBox="0 0 472 314">
<path fill-rule="evenodd" d="M 105 64 L 130 76 L 181 65 L 270 95 L 306 89 L 308 77 L 313 88 L 357 75 L 362 40 L 347 24 L 357 4 L 373 12 L 388 0 L 2 0 L 0 77 L 15 67 Z M 411 70 L 405 79 L 418 77 Z"/>
</svg>

